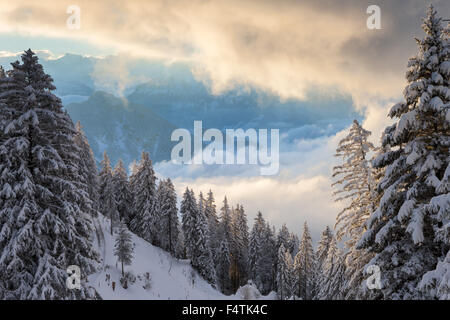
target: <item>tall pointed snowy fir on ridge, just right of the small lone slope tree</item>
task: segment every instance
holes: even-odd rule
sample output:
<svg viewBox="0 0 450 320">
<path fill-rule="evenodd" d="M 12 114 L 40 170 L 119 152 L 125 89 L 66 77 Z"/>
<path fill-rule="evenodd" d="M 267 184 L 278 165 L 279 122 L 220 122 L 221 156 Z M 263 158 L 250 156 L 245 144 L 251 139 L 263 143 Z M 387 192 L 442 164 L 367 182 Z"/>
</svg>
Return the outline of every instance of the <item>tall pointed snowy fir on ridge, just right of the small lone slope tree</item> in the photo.
<svg viewBox="0 0 450 320">
<path fill-rule="evenodd" d="M 156 227 L 156 176 L 147 152 L 142 152 L 141 161 L 133 176 L 134 217 L 130 230 L 141 238 L 153 243 L 158 233 Z"/>
</svg>

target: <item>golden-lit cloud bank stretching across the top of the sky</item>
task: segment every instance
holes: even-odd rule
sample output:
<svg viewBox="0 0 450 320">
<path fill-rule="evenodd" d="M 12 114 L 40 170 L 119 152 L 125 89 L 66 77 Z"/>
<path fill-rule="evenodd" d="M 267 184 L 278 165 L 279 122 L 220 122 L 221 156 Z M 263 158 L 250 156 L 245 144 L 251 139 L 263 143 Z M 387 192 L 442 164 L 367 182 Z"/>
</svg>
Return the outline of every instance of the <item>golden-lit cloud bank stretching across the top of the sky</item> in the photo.
<svg viewBox="0 0 450 320">
<path fill-rule="evenodd" d="M 3 1 L 0 31 L 85 39 L 132 55 L 190 61 L 214 92 L 251 84 L 283 98 L 311 86 L 364 99 L 398 97 L 427 1 L 380 1 L 382 29 L 366 28 L 369 1 Z M 448 12 L 448 1 L 435 1 Z M 364 99 L 361 99 L 364 98 Z"/>
</svg>

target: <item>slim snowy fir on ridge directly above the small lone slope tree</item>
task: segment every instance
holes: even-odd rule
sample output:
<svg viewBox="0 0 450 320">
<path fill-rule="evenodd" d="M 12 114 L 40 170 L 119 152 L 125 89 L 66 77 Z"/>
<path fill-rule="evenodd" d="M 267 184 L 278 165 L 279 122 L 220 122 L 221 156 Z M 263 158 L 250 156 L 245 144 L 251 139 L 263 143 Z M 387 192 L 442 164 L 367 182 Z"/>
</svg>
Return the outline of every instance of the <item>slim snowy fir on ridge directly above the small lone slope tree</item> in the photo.
<svg viewBox="0 0 450 320">
<path fill-rule="evenodd" d="M 118 218 L 120 221 L 128 222 L 130 211 L 133 207 L 133 197 L 130 183 L 128 182 L 127 170 L 122 159 L 119 159 L 112 174 Z"/>
</svg>

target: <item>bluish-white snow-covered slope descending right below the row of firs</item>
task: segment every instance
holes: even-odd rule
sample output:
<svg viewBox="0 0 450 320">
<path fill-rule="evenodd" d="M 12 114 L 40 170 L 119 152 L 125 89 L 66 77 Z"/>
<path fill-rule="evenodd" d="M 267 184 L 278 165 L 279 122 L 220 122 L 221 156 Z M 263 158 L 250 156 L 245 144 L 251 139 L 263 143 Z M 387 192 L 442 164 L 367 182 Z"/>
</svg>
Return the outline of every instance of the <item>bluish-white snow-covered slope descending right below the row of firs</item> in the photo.
<svg viewBox="0 0 450 320">
<path fill-rule="evenodd" d="M 132 234 L 134 259 L 125 272 L 131 272 L 135 283 L 128 283 L 124 289 L 120 284 L 121 266 L 114 256 L 115 235 L 109 232 L 109 219 L 99 216 L 96 221 L 97 239 L 95 244 L 102 256 L 99 272 L 89 276 L 89 285 L 93 286 L 103 299 L 272 299 L 274 294 L 261 296 L 253 286 L 245 286 L 236 295 L 226 296 L 203 280 L 189 264 L 189 260 L 172 257 L 164 250 L 152 246 L 147 241 Z M 145 274 L 150 274 L 150 286 L 144 288 Z M 110 280 L 107 281 L 107 275 Z M 115 290 L 112 289 L 115 282 Z M 245 288 L 245 289 L 244 289 Z"/>
</svg>

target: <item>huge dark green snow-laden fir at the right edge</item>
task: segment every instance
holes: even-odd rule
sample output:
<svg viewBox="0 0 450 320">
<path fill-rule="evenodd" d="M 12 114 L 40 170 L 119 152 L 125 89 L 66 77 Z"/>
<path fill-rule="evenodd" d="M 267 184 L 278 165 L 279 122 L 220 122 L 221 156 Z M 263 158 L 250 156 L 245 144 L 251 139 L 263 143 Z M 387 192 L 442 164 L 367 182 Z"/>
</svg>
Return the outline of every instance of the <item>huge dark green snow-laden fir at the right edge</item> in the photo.
<svg viewBox="0 0 450 320">
<path fill-rule="evenodd" d="M 359 243 L 376 254 L 369 264 L 381 269 L 385 299 L 448 296 L 442 271 L 450 248 L 450 49 L 432 6 L 422 27 L 405 100 L 389 112 L 396 120 L 382 142 L 389 150 L 374 160 L 385 169 L 378 185 L 383 195 Z"/>
</svg>

